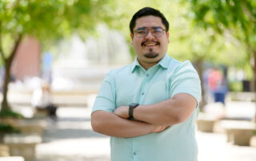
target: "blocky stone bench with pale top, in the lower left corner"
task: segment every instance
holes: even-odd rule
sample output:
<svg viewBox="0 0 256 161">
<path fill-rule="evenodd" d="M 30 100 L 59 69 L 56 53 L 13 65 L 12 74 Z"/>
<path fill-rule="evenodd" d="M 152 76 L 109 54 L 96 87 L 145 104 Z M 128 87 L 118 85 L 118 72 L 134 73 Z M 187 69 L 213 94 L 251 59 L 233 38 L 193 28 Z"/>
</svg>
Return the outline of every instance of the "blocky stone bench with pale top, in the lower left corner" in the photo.
<svg viewBox="0 0 256 161">
<path fill-rule="evenodd" d="M 26 161 L 35 160 L 35 146 L 42 143 L 40 135 L 8 134 L 4 136 L 4 144 L 10 149 L 10 155 L 22 156 Z"/>
</svg>

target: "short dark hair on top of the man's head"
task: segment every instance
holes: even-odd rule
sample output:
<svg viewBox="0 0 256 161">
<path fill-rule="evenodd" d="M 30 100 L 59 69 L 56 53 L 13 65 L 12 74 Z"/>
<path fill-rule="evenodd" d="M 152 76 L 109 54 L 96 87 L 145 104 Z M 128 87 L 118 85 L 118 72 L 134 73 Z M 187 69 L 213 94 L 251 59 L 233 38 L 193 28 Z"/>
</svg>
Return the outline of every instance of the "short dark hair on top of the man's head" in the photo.
<svg viewBox="0 0 256 161">
<path fill-rule="evenodd" d="M 131 18 L 130 33 L 134 33 L 134 27 L 136 25 L 136 20 L 138 18 L 142 18 L 144 16 L 150 16 L 150 15 L 161 18 L 162 24 L 166 26 L 166 31 L 169 30 L 169 22 L 166 20 L 166 17 L 159 10 L 155 10 L 154 8 L 151 8 L 151 7 L 144 7 L 141 10 L 138 10 L 138 12 L 134 14 L 133 18 Z"/>
</svg>

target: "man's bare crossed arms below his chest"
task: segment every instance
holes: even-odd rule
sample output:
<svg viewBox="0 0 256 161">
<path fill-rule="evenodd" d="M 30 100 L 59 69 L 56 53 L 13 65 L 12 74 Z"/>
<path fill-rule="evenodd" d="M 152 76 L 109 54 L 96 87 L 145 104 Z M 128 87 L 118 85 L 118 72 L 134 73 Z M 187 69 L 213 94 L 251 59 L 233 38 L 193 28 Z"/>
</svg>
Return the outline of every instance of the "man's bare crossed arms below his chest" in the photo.
<svg viewBox="0 0 256 161">
<path fill-rule="evenodd" d="M 157 104 L 139 105 L 134 108 L 134 118 L 128 120 L 129 106 L 116 108 L 114 113 L 98 110 L 91 115 L 95 132 L 115 137 L 135 137 L 162 132 L 171 125 L 187 120 L 197 100 L 187 93 L 178 93 Z"/>
</svg>

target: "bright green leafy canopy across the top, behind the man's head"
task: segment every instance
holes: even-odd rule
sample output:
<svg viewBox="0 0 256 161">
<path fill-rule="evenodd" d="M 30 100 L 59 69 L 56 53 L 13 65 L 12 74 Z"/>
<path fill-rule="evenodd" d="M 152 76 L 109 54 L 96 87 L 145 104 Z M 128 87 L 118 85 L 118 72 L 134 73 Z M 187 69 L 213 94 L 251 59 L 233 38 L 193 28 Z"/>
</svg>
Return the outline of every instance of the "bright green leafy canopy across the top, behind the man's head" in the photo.
<svg viewBox="0 0 256 161">
<path fill-rule="evenodd" d="M 255 3 L 249 0 L 0 0 L 1 60 L 7 67 L 10 60 L 11 65 L 22 37 L 36 37 L 42 44 L 73 33 L 85 39 L 98 22 L 120 30 L 129 42 L 130 18 L 142 7 L 151 6 L 165 14 L 170 22 L 170 55 L 182 61 L 202 59 L 238 65 L 246 59 L 238 54 L 243 52 L 241 44 L 248 51 L 256 48 Z"/>
</svg>

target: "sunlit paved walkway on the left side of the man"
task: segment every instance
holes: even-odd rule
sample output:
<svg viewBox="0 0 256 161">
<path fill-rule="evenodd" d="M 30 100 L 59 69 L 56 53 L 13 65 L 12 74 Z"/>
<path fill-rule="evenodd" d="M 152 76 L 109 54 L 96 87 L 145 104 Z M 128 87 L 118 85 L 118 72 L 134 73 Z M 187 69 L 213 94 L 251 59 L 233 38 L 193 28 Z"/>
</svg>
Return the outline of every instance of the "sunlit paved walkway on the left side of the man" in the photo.
<svg viewBox="0 0 256 161">
<path fill-rule="evenodd" d="M 107 161 L 109 137 L 93 132 L 90 109 L 58 108 L 58 121 L 46 129 L 36 161 Z"/>
</svg>

